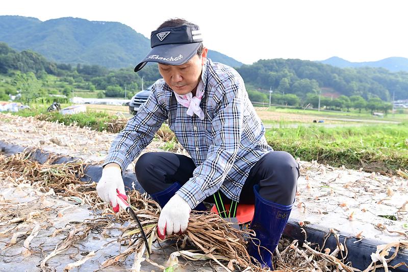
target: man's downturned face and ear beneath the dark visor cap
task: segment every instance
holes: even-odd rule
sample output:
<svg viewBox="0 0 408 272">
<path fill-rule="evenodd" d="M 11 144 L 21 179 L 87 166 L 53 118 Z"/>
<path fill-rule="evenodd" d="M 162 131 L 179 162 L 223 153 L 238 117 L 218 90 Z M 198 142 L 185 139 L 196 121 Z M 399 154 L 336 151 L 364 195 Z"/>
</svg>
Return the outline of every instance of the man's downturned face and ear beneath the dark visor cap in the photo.
<svg viewBox="0 0 408 272">
<path fill-rule="evenodd" d="M 202 49 L 201 56 L 194 55 L 188 62 L 182 65 L 167 65 L 159 63 L 159 72 L 164 81 L 177 94 L 193 92 L 201 79 L 202 65 L 205 64 L 208 49 Z"/>
</svg>

